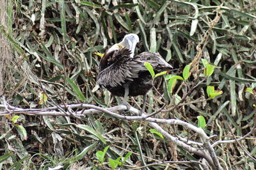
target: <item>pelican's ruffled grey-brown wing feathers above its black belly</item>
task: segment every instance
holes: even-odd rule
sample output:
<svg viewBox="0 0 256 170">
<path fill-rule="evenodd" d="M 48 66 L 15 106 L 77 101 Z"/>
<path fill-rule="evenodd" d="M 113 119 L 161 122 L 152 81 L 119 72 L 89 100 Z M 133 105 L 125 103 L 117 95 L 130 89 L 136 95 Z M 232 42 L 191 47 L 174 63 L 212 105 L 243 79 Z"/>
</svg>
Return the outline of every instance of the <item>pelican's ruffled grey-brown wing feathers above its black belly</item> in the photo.
<svg viewBox="0 0 256 170">
<path fill-rule="evenodd" d="M 108 89 L 133 81 L 141 72 L 147 71 L 145 62 L 149 62 L 156 73 L 172 69 L 159 53 L 143 52 L 135 57 L 127 57 L 124 55 L 125 52 L 122 54 L 116 53 L 116 57 L 113 58 L 115 62 L 98 74 L 97 83 L 100 87 Z"/>
</svg>

